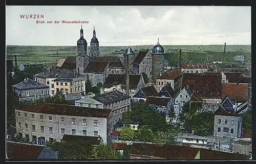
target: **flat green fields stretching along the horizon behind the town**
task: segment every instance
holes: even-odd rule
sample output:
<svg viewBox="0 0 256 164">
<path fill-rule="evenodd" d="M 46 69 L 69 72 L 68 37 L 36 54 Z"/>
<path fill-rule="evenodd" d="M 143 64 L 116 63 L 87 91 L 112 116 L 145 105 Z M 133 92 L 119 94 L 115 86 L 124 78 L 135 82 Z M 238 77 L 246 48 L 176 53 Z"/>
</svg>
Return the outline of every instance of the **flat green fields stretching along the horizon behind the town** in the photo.
<svg viewBox="0 0 256 164">
<path fill-rule="evenodd" d="M 131 46 L 135 53 L 140 50 L 152 49 L 154 45 L 135 45 Z M 163 45 L 165 53 L 176 53 L 177 49 L 182 49 L 182 54 L 194 54 L 197 58 L 204 54 L 222 54 L 224 45 Z M 121 56 L 127 46 L 100 46 L 101 55 L 118 55 Z M 25 45 L 7 45 L 6 57 L 7 59 L 14 59 L 17 55 L 17 64 L 22 63 L 43 63 L 43 62 L 57 62 L 58 59 L 65 59 L 67 56 L 75 56 L 76 46 L 25 46 Z M 89 48 L 88 48 L 89 51 Z M 226 52 L 229 54 L 245 54 L 245 58 L 251 60 L 251 45 L 226 45 Z M 231 56 L 233 56 L 231 55 Z M 210 55 L 211 60 L 216 60 L 219 56 Z M 192 57 L 193 58 L 193 57 Z M 186 58 L 185 61 L 190 61 Z"/>
</svg>

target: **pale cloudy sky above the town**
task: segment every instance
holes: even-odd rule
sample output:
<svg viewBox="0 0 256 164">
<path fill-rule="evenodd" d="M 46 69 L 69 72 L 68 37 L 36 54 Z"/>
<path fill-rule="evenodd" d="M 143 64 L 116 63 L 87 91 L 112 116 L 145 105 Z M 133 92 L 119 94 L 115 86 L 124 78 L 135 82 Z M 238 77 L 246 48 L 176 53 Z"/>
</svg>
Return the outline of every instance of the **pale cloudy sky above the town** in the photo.
<svg viewBox="0 0 256 164">
<path fill-rule="evenodd" d="M 76 45 L 81 25 L 88 45 L 94 26 L 100 46 L 251 44 L 247 6 L 6 6 L 7 45 Z"/>
</svg>

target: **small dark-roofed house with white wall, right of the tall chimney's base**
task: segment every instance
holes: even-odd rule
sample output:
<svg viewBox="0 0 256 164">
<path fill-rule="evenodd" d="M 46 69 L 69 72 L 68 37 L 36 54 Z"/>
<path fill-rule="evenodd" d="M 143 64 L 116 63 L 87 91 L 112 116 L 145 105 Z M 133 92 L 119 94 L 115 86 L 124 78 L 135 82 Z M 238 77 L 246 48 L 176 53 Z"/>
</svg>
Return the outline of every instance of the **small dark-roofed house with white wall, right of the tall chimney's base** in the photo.
<svg viewBox="0 0 256 164">
<path fill-rule="evenodd" d="M 157 96 L 158 95 L 158 92 L 156 90 L 156 88 L 151 85 L 151 86 L 147 86 L 147 87 L 143 87 L 143 88 L 140 88 L 137 93 L 132 97 L 132 100 L 133 101 L 146 101 L 146 98 L 151 96 L 151 97 L 154 97 L 154 96 Z"/>
</svg>

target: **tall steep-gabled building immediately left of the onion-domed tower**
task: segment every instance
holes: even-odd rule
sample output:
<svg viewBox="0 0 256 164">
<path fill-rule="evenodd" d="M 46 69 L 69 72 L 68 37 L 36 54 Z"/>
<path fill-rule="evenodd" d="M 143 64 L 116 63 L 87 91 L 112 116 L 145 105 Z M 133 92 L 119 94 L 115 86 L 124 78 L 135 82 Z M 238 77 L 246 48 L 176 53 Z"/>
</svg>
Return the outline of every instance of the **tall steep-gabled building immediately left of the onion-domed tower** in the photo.
<svg viewBox="0 0 256 164">
<path fill-rule="evenodd" d="M 133 71 L 136 75 L 145 73 L 149 82 L 152 82 L 152 54 L 149 50 L 139 51 L 133 60 Z"/>
</svg>

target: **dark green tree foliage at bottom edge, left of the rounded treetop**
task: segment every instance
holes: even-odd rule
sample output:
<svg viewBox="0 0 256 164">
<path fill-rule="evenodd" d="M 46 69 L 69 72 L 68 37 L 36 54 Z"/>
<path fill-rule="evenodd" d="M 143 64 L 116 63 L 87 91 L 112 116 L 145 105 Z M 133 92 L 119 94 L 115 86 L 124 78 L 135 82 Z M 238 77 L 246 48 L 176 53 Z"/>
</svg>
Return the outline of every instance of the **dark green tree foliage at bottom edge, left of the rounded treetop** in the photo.
<svg viewBox="0 0 256 164">
<path fill-rule="evenodd" d="M 80 141 L 75 142 L 46 142 L 46 146 L 58 152 L 58 159 L 92 159 L 93 147 L 87 144 L 81 144 Z"/>
</svg>

